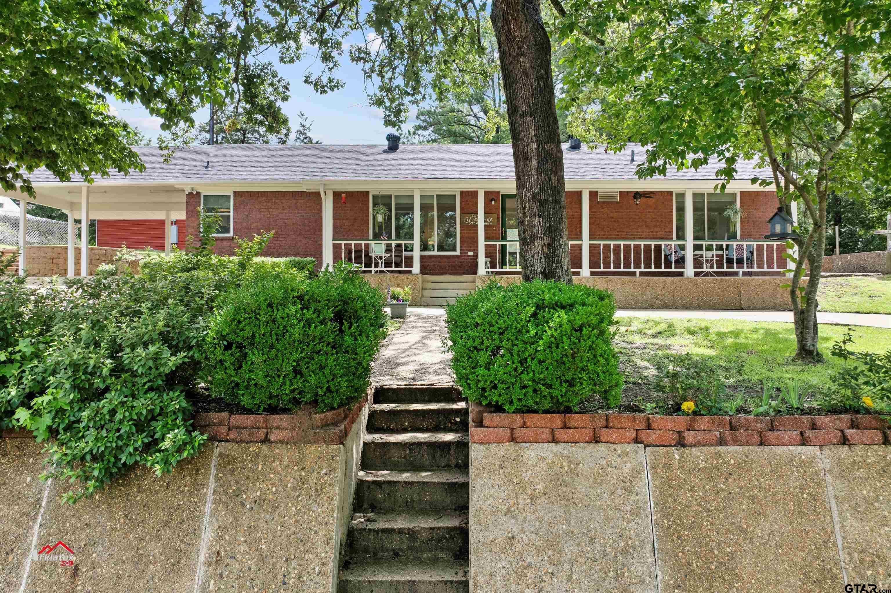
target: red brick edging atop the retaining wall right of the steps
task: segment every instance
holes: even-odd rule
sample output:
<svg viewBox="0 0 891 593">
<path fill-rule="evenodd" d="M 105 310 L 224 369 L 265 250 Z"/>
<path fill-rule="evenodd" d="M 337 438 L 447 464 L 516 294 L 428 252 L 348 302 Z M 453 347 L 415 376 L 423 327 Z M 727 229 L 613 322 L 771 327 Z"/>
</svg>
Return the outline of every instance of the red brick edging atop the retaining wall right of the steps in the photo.
<svg viewBox="0 0 891 593">
<path fill-rule="evenodd" d="M 891 444 L 887 422 L 871 415 L 481 415 L 481 424 L 470 425 L 471 443 L 640 443 L 650 447 Z M 471 411 L 473 419 L 479 419 L 478 412 Z"/>
</svg>

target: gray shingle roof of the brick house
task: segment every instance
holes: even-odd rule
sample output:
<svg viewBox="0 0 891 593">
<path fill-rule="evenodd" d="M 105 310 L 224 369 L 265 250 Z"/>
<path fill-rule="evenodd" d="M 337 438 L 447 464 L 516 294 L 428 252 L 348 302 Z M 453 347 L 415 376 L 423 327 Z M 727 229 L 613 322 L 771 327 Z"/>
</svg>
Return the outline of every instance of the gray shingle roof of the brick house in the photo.
<svg viewBox="0 0 891 593">
<path fill-rule="evenodd" d="M 563 145 L 567 179 L 637 179 L 634 169 L 645 149 L 628 144 L 619 153 L 604 150 L 568 150 Z M 403 144 L 390 152 L 373 144 L 216 144 L 176 150 L 164 163 L 157 147 L 135 147 L 145 172 L 112 172 L 102 182 L 225 182 L 300 180 L 397 179 L 512 179 L 510 144 Z M 631 151 L 635 162 L 631 161 Z M 209 161 L 209 165 L 208 165 Z M 755 175 L 755 161 L 738 163 L 738 179 Z M 716 162 L 699 170 L 669 169 L 665 179 L 714 180 Z M 46 169 L 31 175 L 33 182 L 54 182 Z M 79 179 L 78 179 L 79 181 Z"/>
</svg>

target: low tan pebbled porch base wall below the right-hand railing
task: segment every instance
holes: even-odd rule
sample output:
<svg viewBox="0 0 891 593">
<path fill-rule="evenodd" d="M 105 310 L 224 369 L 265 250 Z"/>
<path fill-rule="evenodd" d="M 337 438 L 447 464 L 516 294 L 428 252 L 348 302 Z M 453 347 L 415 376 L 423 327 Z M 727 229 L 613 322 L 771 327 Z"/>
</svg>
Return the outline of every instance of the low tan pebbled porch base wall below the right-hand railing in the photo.
<svg viewBox="0 0 891 593">
<path fill-rule="evenodd" d="M 590 276 L 576 284 L 609 290 L 620 309 L 749 309 L 789 311 L 789 280 L 778 276 L 658 277 Z M 479 275 L 477 286 L 496 281 L 505 286 L 521 281 L 519 275 Z"/>
</svg>

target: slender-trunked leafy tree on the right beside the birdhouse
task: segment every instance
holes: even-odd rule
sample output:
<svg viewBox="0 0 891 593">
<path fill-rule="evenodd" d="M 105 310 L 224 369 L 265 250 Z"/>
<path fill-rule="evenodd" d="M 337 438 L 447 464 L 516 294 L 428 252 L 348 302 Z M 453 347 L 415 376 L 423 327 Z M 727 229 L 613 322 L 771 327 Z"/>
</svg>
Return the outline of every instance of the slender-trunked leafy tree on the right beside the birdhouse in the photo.
<svg viewBox="0 0 891 593">
<path fill-rule="evenodd" d="M 790 298 L 797 356 L 817 351 L 816 291 L 831 190 L 891 175 L 888 0 L 602 0 L 567 4 L 570 129 L 611 149 L 649 146 L 638 175 L 757 158 L 779 204 L 803 204 Z M 587 108 L 596 93 L 603 101 Z M 807 287 L 801 286 L 809 268 Z"/>
</svg>

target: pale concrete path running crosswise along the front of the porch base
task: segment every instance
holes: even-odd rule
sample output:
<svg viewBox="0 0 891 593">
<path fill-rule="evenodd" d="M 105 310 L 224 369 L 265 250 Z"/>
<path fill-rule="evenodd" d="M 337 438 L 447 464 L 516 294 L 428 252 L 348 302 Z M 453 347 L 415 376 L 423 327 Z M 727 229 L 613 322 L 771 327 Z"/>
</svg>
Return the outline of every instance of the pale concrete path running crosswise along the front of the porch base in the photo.
<svg viewBox="0 0 891 593">
<path fill-rule="evenodd" d="M 442 307 L 409 307 L 409 315 L 446 315 Z M 617 317 L 661 317 L 666 319 L 739 319 L 743 321 L 784 321 L 792 322 L 791 311 L 674 311 L 674 310 L 630 310 L 616 312 Z M 838 325 L 862 325 L 871 328 L 891 328 L 891 315 L 879 313 L 817 313 L 820 323 Z M 445 332 L 445 327 L 443 329 Z"/>
</svg>

